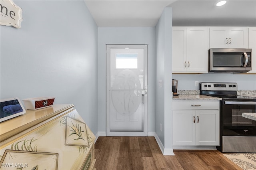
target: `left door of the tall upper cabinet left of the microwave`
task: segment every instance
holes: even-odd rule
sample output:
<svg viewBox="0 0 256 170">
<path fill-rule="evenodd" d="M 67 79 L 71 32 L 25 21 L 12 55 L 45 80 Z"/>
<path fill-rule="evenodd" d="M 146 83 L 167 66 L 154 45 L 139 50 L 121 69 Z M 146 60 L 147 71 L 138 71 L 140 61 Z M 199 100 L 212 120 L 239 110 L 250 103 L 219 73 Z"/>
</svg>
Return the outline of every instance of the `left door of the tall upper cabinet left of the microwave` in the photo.
<svg viewBox="0 0 256 170">
<path fill-rule="evenodd" d="M 187 29 L 172 27 L 172 72 L 186 72 Z"/>
</svg>

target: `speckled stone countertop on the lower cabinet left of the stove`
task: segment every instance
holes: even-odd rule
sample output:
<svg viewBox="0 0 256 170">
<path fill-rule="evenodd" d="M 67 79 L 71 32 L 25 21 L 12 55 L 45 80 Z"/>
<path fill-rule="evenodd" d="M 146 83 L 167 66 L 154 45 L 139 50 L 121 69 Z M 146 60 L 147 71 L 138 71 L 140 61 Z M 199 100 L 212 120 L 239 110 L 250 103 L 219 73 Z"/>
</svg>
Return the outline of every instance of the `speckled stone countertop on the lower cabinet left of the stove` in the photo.
<svg viewBox="0 0 256 170">
<path fill-rule="evenodd" d="M 178 95 L 173 96 L 172 100 L 222 100 L 222 98 L 211 97 L 206 95 Z"/>
</svg>

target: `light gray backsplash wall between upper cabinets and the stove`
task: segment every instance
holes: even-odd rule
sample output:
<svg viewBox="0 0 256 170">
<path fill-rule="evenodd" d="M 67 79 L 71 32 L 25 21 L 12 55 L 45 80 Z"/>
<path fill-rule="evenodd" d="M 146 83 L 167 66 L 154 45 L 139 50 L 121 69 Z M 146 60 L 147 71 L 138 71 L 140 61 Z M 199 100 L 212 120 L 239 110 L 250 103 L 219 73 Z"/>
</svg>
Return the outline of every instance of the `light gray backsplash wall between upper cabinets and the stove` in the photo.
<svg viewBox="0 0 256 170">
<path fill-rule="evenodd" d="M 178 80 L 178 90 L 199 90 L 195 81 L 199 82 L 232 82 L 238 83 L 238 90 L 256 90 L 255 74 L 204 73 L 204 74 L 173 74 Z"/>
</svg>

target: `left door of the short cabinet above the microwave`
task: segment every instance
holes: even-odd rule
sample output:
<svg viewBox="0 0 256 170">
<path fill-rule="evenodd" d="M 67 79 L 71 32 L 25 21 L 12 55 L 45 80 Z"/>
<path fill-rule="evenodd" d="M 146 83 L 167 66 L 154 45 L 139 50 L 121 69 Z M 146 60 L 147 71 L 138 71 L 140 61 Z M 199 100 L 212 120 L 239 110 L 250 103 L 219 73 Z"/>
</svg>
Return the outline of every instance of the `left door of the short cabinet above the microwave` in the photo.
<svg viewBox="0 0 256 170">
<path fill-rule="evenodd" d="M 228 47 L 228 28 L 210 27 L 210 48 Z"/>
</svg>

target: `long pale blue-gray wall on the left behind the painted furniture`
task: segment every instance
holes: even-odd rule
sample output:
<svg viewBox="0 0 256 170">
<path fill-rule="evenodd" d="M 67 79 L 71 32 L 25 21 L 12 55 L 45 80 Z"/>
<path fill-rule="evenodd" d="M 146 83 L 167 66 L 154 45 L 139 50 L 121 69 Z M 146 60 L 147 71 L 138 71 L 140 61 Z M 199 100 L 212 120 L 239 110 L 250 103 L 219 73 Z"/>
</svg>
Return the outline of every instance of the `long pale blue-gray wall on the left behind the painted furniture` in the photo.
<svg viewBox="0 0 256 170">
<path fill-rule="evenodd" d="M 84 1 L 15 1 L 22 28 L 1 28 L 1 99 L 55 96 L 98 132 L 98 27 Z"/>
</svg>

